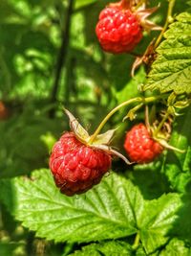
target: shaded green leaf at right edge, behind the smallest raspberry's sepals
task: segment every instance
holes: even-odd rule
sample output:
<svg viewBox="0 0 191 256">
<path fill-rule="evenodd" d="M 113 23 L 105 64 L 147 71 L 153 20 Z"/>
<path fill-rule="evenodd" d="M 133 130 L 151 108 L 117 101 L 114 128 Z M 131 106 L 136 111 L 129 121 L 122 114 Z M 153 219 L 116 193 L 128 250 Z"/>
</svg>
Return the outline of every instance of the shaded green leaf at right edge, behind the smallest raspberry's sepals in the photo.
<svg viewBox="0 0 191 256">
<path fill-rule="evenodd" d="M 191 185 L 191 107 L 188 107 L 175 125 L 170 145 L 184 150 L 184 153 L 168 151 L 162 173 L 168 177 L 171 188 L 184 192 Z"/>
</svg>

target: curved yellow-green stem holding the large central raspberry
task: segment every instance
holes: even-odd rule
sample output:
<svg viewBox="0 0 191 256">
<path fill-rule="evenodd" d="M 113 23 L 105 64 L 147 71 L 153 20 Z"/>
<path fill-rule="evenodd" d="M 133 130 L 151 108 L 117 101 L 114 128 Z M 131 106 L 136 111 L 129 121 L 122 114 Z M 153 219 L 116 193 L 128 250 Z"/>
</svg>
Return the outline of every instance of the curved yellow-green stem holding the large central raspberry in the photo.
<svg viewBox="0 0 191 256">
<path fill-rule="evenodd" d="M 151 96 L 148 98 L 144 98 L 144 97 L 137 97 L 134 99 L 130 99 L 120 105 L 117 105 L 111 112 L 109 112 L 109 114 L 107 114 L 107 116 L 102 120 L 102 122 L 100 123 L 100 125 L 98 126 L 98 128 L 96 128 L 95 133 L 91 136 L 90 141 L 89 141 L 89 145 L 92 144 L 94 142 L 94 140 L 96 139 L 96 136 L 99 134 L 100 130 L 104 127 L 104 125 L 107 123 L 107 121 L 117 112 L 117 110 L 119 110 L 121 107 L 123 106 L 127 106 L 127 105 L 131 105 L 134 103 L 142 103 L 142 104 L 149 104 L 152 102 L 156 102 L 159 99 L 162 99 L 166 96 L 167 94 L 163 94 L 163 95 L 158 95 L 158 96 Z"/>
</svg>

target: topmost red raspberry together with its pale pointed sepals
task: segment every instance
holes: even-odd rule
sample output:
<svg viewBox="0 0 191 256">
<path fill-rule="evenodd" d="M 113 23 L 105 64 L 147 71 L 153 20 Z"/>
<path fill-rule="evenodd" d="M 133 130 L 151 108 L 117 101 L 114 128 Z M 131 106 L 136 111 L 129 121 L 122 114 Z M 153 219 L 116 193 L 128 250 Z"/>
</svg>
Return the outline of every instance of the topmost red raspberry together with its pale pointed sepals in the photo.
<svg viewBox="0 0 191 256">
<path fill-rule="evenodd" d="M 143 30 L 159 30 L 146 17 L 156 11 L 143 7 L 134 11 L 132 0 L 121 0 L 110 4 L 99 14 L 96 24 L 96 36 L 101 48 L 109 53 L 130 53 L 142 38 Z"/>
</svg>

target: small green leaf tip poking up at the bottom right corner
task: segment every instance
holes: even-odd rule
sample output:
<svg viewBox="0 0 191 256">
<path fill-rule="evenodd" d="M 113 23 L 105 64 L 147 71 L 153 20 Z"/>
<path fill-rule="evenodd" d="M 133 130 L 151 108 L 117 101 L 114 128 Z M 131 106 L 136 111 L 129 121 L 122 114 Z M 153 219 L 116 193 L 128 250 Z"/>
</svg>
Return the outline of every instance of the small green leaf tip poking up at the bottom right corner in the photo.
<svg viewBox="0 0 191 256">
<path fill-rule="evenodd" d="M 191 249 L 183 241 L 172 239 L 169 244 L 163 249 L 160 256 L 190 256 Z"/>
</svg>

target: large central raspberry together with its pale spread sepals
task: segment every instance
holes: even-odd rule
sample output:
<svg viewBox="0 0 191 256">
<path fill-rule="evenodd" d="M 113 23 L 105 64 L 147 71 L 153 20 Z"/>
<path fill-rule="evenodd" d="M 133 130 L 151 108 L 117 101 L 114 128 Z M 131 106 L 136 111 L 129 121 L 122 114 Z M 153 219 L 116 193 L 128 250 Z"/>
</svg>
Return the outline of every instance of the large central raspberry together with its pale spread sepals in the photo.
<svg viewBox="0 0 191 256">
<path fill-rule="evenodd" d="M 109 147 L 115 129 L 90 136 L 74 115 L 64 109 L 70 120 L 72 131 L 65 132 L 54 144 L 50 157 L 50 168 L 57 187 L 67 196 L 81 194 L 98 184 L 112 164 L 112 155 L 122 154 Z"/>
</svg>

